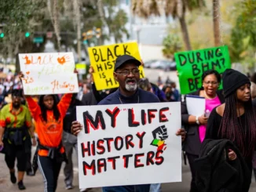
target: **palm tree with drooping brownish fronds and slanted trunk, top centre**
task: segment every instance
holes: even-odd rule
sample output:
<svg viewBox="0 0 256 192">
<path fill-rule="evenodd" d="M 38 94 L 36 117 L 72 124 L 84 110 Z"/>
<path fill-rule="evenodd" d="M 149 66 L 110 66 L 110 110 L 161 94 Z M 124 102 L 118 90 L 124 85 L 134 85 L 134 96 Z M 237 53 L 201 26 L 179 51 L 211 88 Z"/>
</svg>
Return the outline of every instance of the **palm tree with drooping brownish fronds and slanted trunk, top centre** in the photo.
<svg viewBox="0 0 256 192">
<path fill-rule="evenodd" d="M 148 18 L 151 15 L 159 16 L 160 8 L 164 9 L 166 16 L 177 18 L 181 25 L 185 49 L 191 50 L 188 27 L 185 22 L 185 13 L 204 6 L 203 0 L 132 0 L 133 14 Z"/>
</svg>

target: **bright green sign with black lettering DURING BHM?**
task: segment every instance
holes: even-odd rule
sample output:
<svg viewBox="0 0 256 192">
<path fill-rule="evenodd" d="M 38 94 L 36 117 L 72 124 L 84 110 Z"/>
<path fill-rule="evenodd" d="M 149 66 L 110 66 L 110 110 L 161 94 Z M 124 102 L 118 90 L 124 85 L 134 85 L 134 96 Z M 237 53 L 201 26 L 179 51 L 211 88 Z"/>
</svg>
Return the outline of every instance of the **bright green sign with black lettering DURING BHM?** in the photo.
<svg viewBox="0 0 256 192">
<path fill-rule="evenodd" d="M 231 68 L 228 46 L 193 50 L 174 54 L 179 74 L 181 94 L 200 89 L 204 71 L 214 69 L 222 74 Z M 220 86 L 222 89 L 222 84 Z"/>
</svg>

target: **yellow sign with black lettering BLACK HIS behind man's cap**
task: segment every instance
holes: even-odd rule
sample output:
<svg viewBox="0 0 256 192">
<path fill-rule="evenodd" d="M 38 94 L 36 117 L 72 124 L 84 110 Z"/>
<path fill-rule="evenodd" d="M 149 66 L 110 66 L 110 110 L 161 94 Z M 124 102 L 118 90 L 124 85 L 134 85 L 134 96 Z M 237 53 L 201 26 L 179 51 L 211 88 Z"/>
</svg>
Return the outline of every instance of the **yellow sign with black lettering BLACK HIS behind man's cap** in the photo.
<svg viewBox="0 0 256 192">
<path fill-rule="evenodd" d="M 130 55 L 141 61 L 137 42 L 90 47 L 88 48 L 88 53 L 90 64 L 94 70 L 93 79 L 98 91 L 119 86 L 113 76 L 115 60 L 118 56 Z M 144 78 L 143 67 L 141 66 L 139 69 L 141 78 Z"/>
</svg>

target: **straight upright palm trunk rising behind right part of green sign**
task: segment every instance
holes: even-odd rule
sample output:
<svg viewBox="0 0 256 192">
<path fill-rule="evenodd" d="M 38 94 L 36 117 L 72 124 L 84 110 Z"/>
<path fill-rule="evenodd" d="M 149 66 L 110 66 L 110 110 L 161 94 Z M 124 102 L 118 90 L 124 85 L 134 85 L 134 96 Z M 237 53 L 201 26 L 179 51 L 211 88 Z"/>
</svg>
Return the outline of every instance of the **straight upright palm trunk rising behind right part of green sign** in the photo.
<svg viewBox="0 0 256 192">
<path fill-rule="evenodd" d="M 213 20 L 214 20 L 214 45 L 221 45 L 221 31 L 220 31 L 220 5 L 219 0 L 213 0 Z"/>
</svg>

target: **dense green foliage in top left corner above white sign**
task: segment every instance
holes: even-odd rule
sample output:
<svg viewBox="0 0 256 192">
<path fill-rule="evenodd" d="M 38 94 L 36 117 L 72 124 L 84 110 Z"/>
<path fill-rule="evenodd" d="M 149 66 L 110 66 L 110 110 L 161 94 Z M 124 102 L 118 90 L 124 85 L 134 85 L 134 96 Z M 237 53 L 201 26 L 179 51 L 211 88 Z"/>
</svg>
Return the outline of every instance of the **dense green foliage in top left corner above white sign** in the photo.
<svg viewBox="0 0 256 192">
<path fill-rule="evenodd" d="M 27 42 L 33 44 L 31 32 L 41 24 L 44 6 L 46 2 L 43 0 L 1 0 L 0 25 L 5 36 L 0 39 L 0 54 L 4 58 L 30 51 Z M 26 32 L 31 34 L 30 37 L 25 37 Z"/>
</svg>

